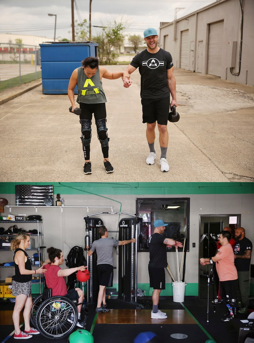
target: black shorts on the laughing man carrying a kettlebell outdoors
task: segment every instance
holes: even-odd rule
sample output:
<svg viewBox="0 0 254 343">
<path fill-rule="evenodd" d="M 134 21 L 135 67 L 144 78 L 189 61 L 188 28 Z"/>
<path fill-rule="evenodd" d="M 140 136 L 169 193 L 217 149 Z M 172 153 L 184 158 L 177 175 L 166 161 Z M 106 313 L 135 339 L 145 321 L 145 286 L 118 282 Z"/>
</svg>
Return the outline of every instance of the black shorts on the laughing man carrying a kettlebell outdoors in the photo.
<svg viewBox="0 0 254 343">
<path fill-rule="evenodd" d="M 141 99 L 143 123 L 152 124 L 157 121 L 167 125 L 169 119 L 170 97 L 160 99 Z"/>
</svg>

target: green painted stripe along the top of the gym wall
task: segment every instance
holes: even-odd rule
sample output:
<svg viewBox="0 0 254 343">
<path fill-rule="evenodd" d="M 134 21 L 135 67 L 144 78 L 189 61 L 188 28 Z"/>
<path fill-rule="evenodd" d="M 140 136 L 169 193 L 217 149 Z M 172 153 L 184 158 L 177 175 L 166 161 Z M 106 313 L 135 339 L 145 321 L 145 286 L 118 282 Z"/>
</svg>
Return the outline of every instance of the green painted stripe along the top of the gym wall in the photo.
<svg viewBox="0 0 254 343">
<path fill-rule="evenodd" d="M 15 185 L 53 185 L 60 194 L 251 194 L 253 182 L 1 182 L 0 194 L 15 194 Z"/>
</svg>

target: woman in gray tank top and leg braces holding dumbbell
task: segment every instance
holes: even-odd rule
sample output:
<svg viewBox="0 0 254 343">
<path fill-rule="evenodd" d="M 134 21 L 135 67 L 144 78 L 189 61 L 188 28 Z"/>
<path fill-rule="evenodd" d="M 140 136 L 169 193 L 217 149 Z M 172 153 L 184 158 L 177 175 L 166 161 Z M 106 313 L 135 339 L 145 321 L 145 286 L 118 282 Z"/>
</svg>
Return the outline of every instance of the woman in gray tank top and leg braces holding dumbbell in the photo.
<svg viewBox="0 0 254 343">
<path fill-rule="evenodd" d="M 82 67 L 72 72 L 68 96 L 72 105 L 72 112 L 77 107 L 74 101 L 74 88 L 78 86 L 77 102 L 80 105 L 81 141 L 83 146 L 85 164 L 84 174 L 92 174 L 90 161 L 91 123 L 94 114 L 97 128 L 97 137 L 101 143 L 106 173 L 113 173 L 114 168 L 108 159 L 108 135 L 106 127 L 106 96 L 102 87 L 102 78 L 119 79 L 123 72 L 111 73 L 105 68 L 99 68 L 99 60 L 96 57 L 87 57 L 82 61 Z"/>
</svg>

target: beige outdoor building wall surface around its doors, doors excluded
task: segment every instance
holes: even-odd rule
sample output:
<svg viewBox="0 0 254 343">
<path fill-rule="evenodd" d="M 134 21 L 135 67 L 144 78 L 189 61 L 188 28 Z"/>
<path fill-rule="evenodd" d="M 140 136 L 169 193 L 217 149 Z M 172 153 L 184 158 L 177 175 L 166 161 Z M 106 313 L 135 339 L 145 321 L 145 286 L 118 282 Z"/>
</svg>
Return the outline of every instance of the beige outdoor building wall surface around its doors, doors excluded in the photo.
<svg viewBox="0 0 254 343">
<path fill-rule="evenodd" d="M 231 75 L 230 65 L 232 56 L 232 42 L 236 41 L 236 64 L 233 69 L 234 73 L 239 71 L 239 49 L 240 49 L 240 28 L 241 28 L 241 10 L 239 0 L 219 0 L 214 4 L 204 7 L 203 9 L 184 16 L 176 21 L 176 40 L 174 41 L 174 22 L 161 23 L 160 27 L 160 46 L 169 51 L 173 57 L 174 66 L 180 67 L 181 58 L 181 32 L 189 31 L 188 44 L 188 66 L 187 69 L 194 72 L 207 73 L 208 64 L 208 37 L 209 24 L 223 21 L 222 37 L 222 60 L 221 75 L 222 79 L 238 82 L 241 84 L 254 85 L 254 1 L 242 0 L 243 3 L 243 41 L 242 41 L 242 58 L 241 72 L 239 76 Z M 168 36 L 166 39 L 165 36 Z M 165 42 L 165 43 L 164 43 Z M 201 51 L 199 43 L 202 44 Z M 229 44 L 231 42 L 231 44 Z M 194 51 L 191 51 L 192 44 Z M 202 62 L 200 56 L 202 54 Z M 198 62 L 199 55 L 199 62 Z M 193 63 L 192 63 L 193 62 Z M 198 70 L 200 63 L 201 70 Z M 227 70 L 226 70 L 227 69 Z M 246 73 L 247 70 L 247 73 Z M 247 76 L 246 76 L 247 75 Z"/>
</svg>

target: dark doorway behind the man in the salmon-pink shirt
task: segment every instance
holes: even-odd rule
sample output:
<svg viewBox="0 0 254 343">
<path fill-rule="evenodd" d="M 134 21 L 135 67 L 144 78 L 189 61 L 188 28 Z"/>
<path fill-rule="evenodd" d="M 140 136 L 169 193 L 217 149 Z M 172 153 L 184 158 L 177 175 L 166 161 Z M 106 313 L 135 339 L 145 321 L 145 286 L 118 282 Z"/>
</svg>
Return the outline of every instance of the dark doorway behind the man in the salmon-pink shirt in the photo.
<svg viewBox="0 0 254 343">
<path fill-rule="evenodd" d="M 230 227 L 232 232 L 241 226 L 241 214 L 207 214 L 199 215 L 199 257 L 211 257 L 216 254 L 216 244 L 219 233 L 224 227 Z M 211 265 L 201 266 L 199 264 L 198 296 L 200 299 L 208 297 L 208 275 Z M 209 298 L 213 298 L 213 288 L 217 295 L 216 284 L 213 283 L 212 273 L 210 275 Z"/>
</svg>

